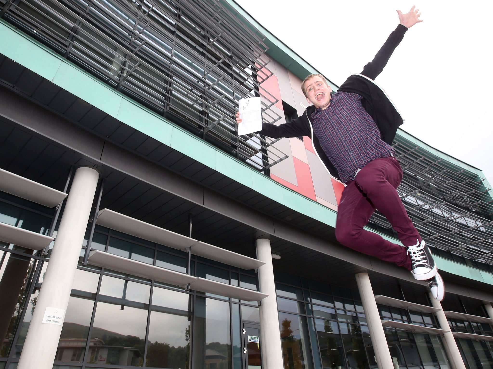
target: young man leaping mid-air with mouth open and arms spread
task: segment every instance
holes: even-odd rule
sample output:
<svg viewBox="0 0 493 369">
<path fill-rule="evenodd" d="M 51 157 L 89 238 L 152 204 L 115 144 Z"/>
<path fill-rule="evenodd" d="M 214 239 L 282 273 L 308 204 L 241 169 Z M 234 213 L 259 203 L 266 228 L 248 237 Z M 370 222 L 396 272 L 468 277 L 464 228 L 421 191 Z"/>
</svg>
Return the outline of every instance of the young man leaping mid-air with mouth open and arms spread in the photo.
<svg viewBox="0 0 493 369">
<path fill-rule="evenodd" d="M 346 184 L 337 213 L 337 240 L 407 268 L 416 279 L 429 280 L 433 297 L 441 301 L 443 280 L 396 190 L 402 168 L 390 145 L 403 120 L 386 93 L 373 82 L 404 33 L 423 22 L 414 6 L 406 14 L 400 10 L 397 13 L 399 25 L 360 74 L 350 76 L 334 94 L 322 75 L 309 75 L 301 88 L 313 105 L 291 122 L 262 123 L 257 133 L 272 138 L 311 137 L 327 171 Z M 239 114 L 236 117 L 240 123 Z M 363 229 L 376 209 L 388 219 L 405 247 Z"/>
</svg>

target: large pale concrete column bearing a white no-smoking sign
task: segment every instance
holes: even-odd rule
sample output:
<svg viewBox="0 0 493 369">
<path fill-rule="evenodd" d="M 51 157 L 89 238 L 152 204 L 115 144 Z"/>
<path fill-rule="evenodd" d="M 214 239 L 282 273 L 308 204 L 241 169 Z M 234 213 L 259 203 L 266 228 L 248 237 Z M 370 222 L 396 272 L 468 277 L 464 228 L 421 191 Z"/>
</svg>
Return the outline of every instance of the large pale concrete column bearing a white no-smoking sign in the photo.
<svg viewBox="0 0 493 369">
<path fill-rule="evenodd" d="M 42 321 L 47 308 L 55 308 L 63 324 L 98 178 L 92 168 L 75 171 L 18 369 L 53 368 L 62 325 Z"/>
</svg>

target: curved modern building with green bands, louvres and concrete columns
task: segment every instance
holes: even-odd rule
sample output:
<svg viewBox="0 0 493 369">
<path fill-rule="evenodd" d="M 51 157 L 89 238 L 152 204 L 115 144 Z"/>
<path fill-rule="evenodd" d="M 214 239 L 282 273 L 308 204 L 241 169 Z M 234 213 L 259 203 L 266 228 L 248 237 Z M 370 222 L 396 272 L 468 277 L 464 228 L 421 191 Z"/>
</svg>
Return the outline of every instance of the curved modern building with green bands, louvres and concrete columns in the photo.
<svg viewBox="0 0 493 369">
<path fill-rule="evenodd" d="M 343 184 L 307 137 L 238 136 L 238 99 L 283 123 L 317 71 L 232 0 L 0 0 L 0 18 L 0 369 L 493 368 L 479 169 L 394 141 L 438 303 L 337 243 Z"/>
</svg>

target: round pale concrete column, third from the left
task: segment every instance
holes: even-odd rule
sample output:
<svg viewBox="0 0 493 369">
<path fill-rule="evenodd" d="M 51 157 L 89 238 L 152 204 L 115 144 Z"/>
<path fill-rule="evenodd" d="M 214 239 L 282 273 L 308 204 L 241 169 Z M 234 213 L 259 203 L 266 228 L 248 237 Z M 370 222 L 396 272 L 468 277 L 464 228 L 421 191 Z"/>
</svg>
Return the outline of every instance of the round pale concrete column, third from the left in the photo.
<svg viewBox="0 0 493 369">
<path fill-rule="evenodd" d="M 378 368 L 394 369 L 392 357 L 388 350 L 387 338 L 385 337 L 384 327 L 382 325 L 382 320 L 380 319 L 380 313 L 378 312 L 377 302 L 375 301 L 375 295 L 373 294 L 373 288 L 368 273 L 356 274 L 356 282 L 358 284 L 359 295 L 361 296 L 361 303 L 365 310 L 368 330 L 370 331 L 371 343 L 373 344 L 373 351 L 375 352 Z"/>
</svg>

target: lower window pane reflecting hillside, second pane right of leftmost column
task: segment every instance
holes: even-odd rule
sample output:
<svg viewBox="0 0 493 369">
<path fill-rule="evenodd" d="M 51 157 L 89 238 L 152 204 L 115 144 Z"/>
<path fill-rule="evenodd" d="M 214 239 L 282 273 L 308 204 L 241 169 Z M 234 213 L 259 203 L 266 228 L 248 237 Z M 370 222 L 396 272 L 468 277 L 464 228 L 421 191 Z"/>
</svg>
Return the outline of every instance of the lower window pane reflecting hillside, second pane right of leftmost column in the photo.
<svg viewBox="0 0 493 369">
<path fill-rule="evenodd" d="M 98 302 L 87 363 L 143 365 L 147 309 Z"/>
</svg>

